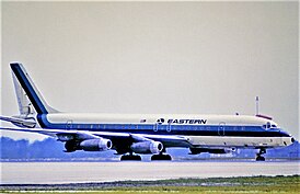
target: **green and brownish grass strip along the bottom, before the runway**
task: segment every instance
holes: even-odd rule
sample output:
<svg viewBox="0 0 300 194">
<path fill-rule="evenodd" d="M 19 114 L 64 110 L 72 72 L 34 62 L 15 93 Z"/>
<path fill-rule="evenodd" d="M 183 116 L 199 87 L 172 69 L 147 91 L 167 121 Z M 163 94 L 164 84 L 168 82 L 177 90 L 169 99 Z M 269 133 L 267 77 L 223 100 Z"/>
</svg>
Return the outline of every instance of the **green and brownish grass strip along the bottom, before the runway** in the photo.
<svg viewBox="0 0 300 194">
<path fill-rule="evenodd" d="M 300 193 L 300 175 L 119 181 L 109 183 L 0 185 L 0 193 Z"/>
</svg>

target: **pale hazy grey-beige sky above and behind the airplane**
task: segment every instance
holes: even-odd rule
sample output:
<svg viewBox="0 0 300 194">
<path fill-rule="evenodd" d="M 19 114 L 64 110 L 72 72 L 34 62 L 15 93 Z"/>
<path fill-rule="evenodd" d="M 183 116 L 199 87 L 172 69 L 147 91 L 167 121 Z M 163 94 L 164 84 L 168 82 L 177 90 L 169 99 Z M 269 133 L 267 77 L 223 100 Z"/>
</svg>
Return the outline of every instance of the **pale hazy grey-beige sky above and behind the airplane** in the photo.
<svg viewBox="0 0 300 194">
<path fill-rule="evenodd" d="M 254 115 L 258 95 L 299 137 L 298 2 L 1 7 L 1 115 L 18 115 L 9 62 L 21 61 L 59 111 Z"/>
</svg>

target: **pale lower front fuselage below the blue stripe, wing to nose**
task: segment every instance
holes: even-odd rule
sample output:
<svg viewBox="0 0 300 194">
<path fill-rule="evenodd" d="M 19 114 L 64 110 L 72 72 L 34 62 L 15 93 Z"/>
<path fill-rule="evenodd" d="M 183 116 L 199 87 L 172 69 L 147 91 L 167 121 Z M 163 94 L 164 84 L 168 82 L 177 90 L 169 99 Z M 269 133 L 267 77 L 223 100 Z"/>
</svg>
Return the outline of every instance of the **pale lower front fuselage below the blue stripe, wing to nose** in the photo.
<svg viewBox="0 0 300 194">
<path fill-rule="evenodd" d="M 193 146 L 216 147 L 275 147 L 291 144 L 289 137 L 226 137 L 226 136 L 188 136 Z"/>
</svg>

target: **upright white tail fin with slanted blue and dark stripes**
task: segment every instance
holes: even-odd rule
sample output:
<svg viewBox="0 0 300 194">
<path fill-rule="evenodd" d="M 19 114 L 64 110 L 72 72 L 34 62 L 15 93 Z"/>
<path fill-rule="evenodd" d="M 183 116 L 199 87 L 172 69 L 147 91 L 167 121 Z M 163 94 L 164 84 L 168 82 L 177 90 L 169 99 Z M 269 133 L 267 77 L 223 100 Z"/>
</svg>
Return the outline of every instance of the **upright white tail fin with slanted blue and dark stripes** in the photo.
<svg viewBox="0 0 300 194">
<path fill-rule="evenodd" d="M 30 78 L 28 73 L 26 72 L 22 64 L 12 62 L 10 64 L 10 66 L 14 77 L 15 92 L 16 92 L 19 110 L 21 114 L 31 113 L 31 110 L 30 110 L 31 104 L 27 102 L 26 99 L 24 99 L 26 98 L 24 96 L 25 93 L 38 114 L 58 112 L 57 110 L 53 109 L 46 103 L 46 101 L 36 89 L 35 84 L 33 83 L 32 79 Z M 19 81 L 20 84 L 18 84 L 16 80 Z M 24 91 L 21 90 L 20 85 L 23 88 L 25 93 Z"/>
</svg>

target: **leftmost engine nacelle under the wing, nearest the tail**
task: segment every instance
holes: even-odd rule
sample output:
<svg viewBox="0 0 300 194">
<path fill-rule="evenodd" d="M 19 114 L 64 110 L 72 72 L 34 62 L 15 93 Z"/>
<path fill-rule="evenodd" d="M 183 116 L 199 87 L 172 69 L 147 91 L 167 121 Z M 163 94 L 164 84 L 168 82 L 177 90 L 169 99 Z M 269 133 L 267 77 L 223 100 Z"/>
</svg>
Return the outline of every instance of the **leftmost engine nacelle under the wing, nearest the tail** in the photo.
<svg viewBox="0 0 300 194">
<path fill-rule="evenodd" d="M 113 142 L 109 139 L 88 139 L 79 144 L 84 151 L 105 151 L 112 148 Z"/>
</svg>

